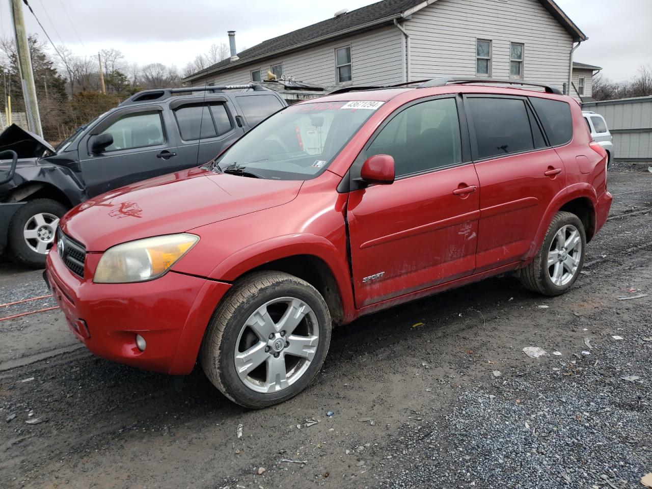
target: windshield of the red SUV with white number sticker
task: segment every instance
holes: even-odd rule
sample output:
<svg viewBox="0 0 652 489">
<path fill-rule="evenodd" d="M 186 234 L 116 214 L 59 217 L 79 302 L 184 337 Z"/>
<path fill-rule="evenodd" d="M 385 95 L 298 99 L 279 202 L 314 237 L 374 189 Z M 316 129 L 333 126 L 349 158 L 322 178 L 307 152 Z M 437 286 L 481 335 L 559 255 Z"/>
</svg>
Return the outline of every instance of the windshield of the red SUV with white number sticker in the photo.
<svg viewBox="0 0 652 489">
<path fill-rule="evenodd" d="M 279 180 L 324 171 L 383 102 L 310 102 L 282 110 L 250 130 L 216 170 Z"/>
</svg>

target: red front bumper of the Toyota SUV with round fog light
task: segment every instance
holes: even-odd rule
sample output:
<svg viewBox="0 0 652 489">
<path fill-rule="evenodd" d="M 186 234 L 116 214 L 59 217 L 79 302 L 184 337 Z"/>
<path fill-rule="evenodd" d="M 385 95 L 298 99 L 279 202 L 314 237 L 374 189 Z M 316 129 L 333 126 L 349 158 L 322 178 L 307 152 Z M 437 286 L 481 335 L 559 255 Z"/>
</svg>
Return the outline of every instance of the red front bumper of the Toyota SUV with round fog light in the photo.
<svg viewBox="0 0 652 489">
<path fill-rule="evenodd" d="M 74 275 L 56 248 L 44 273 L 72 333 L 95 355 L 174 375 L 190 373 L 215 307 L 231 287 L 168 272 L 138 284 L 94 284 Z M 136 334 L 147 347 L 136 347 Z"/>
</svg>

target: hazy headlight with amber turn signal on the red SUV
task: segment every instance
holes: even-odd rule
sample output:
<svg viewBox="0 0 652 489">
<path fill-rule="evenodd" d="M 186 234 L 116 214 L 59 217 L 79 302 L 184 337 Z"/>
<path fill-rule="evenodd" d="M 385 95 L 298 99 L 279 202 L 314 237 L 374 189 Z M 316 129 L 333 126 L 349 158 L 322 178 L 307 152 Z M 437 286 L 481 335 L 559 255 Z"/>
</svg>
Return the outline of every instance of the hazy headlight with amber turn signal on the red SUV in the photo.
<svg viewBox="0 0 652 489">
<path fill-rule="evenodd" d="M 158 278 L 198 241 L 199 236 L 182 233 L 117 244 L 100 258 L 93 282 L 125 284 Z"/>
</svg>

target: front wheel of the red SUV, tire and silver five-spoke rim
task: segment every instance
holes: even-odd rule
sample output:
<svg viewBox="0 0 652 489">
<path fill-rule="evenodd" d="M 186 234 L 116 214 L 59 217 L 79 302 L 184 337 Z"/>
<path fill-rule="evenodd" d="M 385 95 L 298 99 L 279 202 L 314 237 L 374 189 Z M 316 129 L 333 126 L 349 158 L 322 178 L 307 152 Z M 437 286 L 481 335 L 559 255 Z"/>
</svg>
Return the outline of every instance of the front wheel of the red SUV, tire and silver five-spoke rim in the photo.
<svg viewBox="0 0 652 489">
<path fill-rule="evenodd" d="M 330 341 L 331 314 L 317 289 L 287 273 L 254 273 L 218 306 L 201 345 L 201 366 L 233 402 L 265 408 L 310 384 Z"/>
</svg>

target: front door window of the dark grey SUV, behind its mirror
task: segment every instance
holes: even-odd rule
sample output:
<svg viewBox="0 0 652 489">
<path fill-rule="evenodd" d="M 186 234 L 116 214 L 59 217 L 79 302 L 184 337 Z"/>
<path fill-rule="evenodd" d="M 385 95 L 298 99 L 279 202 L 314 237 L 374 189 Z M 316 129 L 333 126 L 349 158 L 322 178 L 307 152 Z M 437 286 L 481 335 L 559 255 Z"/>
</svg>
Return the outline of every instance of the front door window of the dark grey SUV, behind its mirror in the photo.
<svg viewBox="0 0 652 489">
<path fill-rule="evenodd" d="M 102 134 L 113 136 L 113 143 L 105 151 L 143 148 L 165 142 L 159 111 L 137 112 L 123 115 Z"/>
</svg>

